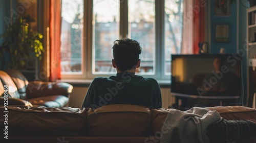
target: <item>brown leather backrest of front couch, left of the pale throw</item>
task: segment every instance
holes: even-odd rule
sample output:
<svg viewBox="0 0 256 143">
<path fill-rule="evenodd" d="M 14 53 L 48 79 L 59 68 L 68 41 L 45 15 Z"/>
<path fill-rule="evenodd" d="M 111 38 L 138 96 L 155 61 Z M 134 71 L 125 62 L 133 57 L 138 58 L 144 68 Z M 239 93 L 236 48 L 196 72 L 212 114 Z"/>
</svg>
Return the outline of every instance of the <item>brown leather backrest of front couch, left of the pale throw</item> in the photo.
<svg viewBox="0 0 256 143">
<path fill-rule="evenodd" d="M 137 105 L 108 105 L 96 110 L 9 106 L 8 111 L 8 133 L 13 136 L 148 136 L 160 131 L 168 113 L 167 109 Z M 4 112 L 1 106 L 0 112 Z M 3 115 L 0 114 L 1 129 Z"/>
</svg>

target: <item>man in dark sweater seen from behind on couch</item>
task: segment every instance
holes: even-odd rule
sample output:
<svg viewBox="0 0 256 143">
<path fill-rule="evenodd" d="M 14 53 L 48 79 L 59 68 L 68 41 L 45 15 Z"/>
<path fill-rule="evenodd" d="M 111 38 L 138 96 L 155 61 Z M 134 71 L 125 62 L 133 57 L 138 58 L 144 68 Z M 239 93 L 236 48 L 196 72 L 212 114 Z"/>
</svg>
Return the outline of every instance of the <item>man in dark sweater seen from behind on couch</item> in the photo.
<svg viewBox="0 0 256 143">
<path fill-rule="evenodd" d="M 116 76 L 95 78 L 87 91 L 82 107 L 99 108 L 110 104 L 133 104 L 162 108 L 161 90 L 153 78 L 135 75 L 140 67 L 140 44 L 132 39 L 114 41 L 112 65 Z"/>
</svg>

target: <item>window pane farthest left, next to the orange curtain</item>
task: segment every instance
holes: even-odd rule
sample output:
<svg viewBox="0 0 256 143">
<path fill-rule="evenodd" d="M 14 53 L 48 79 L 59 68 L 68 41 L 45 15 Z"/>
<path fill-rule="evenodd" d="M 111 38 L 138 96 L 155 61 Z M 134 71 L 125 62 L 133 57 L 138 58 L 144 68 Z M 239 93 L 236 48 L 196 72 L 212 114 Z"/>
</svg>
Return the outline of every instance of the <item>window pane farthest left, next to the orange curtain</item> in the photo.
<svg viewBox="0 0 256 143">
<path fill-rule="evenodd" d="M 61 73 L 81 73 L 83 1 L 62 0 Z"/>
</svg>

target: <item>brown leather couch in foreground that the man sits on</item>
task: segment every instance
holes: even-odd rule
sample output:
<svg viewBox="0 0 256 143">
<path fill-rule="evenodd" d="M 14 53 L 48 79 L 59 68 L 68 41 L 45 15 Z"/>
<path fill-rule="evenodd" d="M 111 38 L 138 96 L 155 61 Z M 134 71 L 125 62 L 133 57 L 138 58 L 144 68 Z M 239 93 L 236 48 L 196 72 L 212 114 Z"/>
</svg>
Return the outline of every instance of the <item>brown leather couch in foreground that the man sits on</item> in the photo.
<svg viewBox="0 0 256 143">
<path fill-rule="evenodd" d="M 256 119 L 242 106 L 209 107 L 227 120 Z M 7 112 L 8 115 L 4 116 Z M 91 108 L 0 107 L 0 142 L 159 142 L 168 109 L 137 105 Z M 8 125 L 4 125 L 8 123 Z M 5 131 L 7 130 L 7 132 Z M 7 134 L 4 134 L 7 133 Z M 8 135 L 8 139 L 4 137 Z M 256 142 L 256 136 L 241 142 Z"/>
</svg>

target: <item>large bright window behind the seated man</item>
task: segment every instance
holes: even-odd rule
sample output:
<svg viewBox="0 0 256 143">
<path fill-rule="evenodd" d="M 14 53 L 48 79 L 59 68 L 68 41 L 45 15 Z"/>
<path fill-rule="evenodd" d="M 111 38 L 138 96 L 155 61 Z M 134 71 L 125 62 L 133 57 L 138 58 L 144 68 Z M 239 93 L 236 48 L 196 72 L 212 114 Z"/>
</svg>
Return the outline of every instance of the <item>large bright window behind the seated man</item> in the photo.
<svg viewBox="0 0 256 143">
<path fill-rule="evenodd" d="M 132 38 L 142 47 L 137 74 L 169 80 L 170 54 L 180 53 L 182 15 L 183 0 L 62 0 L 62 78 L 115 75 L 113 42 Z"/>
</svg>

